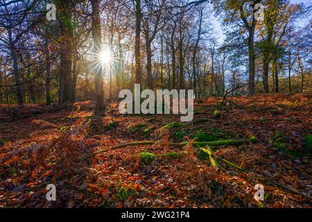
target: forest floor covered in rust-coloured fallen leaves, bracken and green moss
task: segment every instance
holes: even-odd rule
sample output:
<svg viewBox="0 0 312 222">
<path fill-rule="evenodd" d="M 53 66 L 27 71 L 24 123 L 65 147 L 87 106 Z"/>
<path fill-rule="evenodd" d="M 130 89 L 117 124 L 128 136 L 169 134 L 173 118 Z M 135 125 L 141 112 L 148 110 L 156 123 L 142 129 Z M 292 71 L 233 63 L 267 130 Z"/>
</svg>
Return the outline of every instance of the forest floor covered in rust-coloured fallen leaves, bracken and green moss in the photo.
<svg viewBox="0 0 312 222">
<path fill-rule="evenodd" d="M 190 123 L 120 115 L 116 103 L 100 115 L 92 101 L 26 116 L 1 105 L 0 207 L 311 207 L 311 98 L 200 99 Z M 223 140 L 212 155 L 196 145 Z"/>
</svg>

